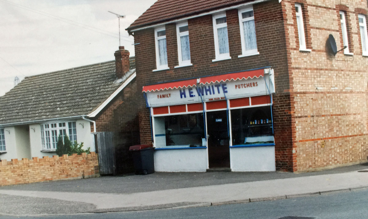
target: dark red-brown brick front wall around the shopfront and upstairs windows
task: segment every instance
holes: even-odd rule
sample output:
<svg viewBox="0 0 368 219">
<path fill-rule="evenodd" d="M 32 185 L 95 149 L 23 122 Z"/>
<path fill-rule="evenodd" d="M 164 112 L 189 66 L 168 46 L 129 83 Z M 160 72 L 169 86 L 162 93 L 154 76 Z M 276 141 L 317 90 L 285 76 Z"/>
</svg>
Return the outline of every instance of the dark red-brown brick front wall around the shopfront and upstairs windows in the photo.
<svg viewBox="0 0 368 219">
<path fill-rule="evenodd" d="M 271 66 L 275 70 L 274 122 L 276 163 L 278 170 L 294 170 L 292 157 L 291 107 L 289 71 L 284 31 L 284 17 L 277 0 L 253 5 L 259 55 L 241 55 L 240 26 L 237 10 L 226 11 L 230 60 L 215 59 L 212 15 L 188 20 L 192 66 L 174 68 L 178 64 L 175 25 L 166 25 L 169 70 L 156 69 L 154 29 L 134 32 L 137 63 L 137 96 L 139 101 L 139 127 L 142 144 L 152 144 L 149 111 L 145 106 L 142 86 L 171 80 L 202 77 L 252 68 Z"/>
</svg>

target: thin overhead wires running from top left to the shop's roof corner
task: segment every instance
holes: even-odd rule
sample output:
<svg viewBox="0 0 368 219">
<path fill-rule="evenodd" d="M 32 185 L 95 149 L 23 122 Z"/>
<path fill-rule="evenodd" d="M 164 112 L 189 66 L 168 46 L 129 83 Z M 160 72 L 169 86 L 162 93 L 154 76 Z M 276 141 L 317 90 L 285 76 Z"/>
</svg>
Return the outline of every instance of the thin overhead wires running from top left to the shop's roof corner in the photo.
<svg viewBox="0 0 368 219">
<path fill-rule="evenodd" d="M 114 37 L 114 38 L 119 38 L 118 37 L 118 34 L 112 33 L 110 31 L 102 30 L 102 29 L 99 29 L 97 27 L 86 25 L 84 23 L 72 21 L 70 19 L 66 19 L 66 18 L 57 16 L 57 15 L 53 15 L 53 14 L 47 13 L 47 12 L 39 11 L 39 10 L 30 8 L 30 7 L 21 5 L 21 4 L 17 4 L 17 3 L 13 3 L 13 2 L 7 1 L 7 0 L 0 0 L 0 1 L 3 2 L 3 3 L 7 3 L 7 4 L 10 4 L 10 5 L 13 5 L 14 7 L 22 8 L 23 10 L 26 10 L 26 11 L 31 11 L 33 13 L 36 13 L 36 14 L 39 14 L 39 15 L 43 15 L 43 16 L 46 16 L 46 17 L 49 17 L 49 18 L 53 18 L 53 19 L 56 19 L 56 20 L 61 21 L 61 22 L 64 22 L 64 23 L 68 23 L 68 24 L 71 24 L 71 25 L 74 25 L 74 26 L 82 27 L 82 28 L 87 29 L 87 30 L 90 30 L 90 31 L 94 31 L 96 33 L 104 34 L 106 36 L 110 36 L 110 37 Z M 132 40 L 129 37 L 123 36 L 123 38 L 125 38 L 125 39 L 123 39 L 125 41 L 134 42 L 134 40 Z"/>
</svg>

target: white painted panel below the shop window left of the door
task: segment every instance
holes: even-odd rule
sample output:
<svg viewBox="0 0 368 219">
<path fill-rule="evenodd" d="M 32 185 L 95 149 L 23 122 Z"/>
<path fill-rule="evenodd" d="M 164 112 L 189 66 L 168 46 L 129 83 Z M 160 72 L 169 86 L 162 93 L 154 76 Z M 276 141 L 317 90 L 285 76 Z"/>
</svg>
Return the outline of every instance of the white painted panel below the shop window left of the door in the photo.
<svg viewBox="0 0 368 219">
<path fill-rule="evenodd" d="M 206 172 L 207 152 L 201 149 L 155 150 L 157 172 Z"/>
</svg>

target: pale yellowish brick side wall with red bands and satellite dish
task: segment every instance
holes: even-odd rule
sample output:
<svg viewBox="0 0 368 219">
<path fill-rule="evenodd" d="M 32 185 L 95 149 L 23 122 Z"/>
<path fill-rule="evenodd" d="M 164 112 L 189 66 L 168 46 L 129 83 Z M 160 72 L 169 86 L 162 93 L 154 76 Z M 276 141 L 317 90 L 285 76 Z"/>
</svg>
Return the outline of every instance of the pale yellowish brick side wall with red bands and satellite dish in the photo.
<svg viewBox="0 0 368 219">
<path fill-rule="evenodd" d="M 294 171 L 364 162 L 368 156 L 368 57 L 362 56 L 357 19 L 358 13 L 367 14 L 367 1 L 297 2 L 307 13 L 303 18 L 309 26 L 312 51 L 299 51 L 295 1 L 283 0 L 293 122 L 293 151 L 286 154 L 293 159 Z M 346 12 L 353 56 L 328 52 L 329 34 L 335 37 L 338 50 L 343 47 L 340 10 Z"/>
</svg>

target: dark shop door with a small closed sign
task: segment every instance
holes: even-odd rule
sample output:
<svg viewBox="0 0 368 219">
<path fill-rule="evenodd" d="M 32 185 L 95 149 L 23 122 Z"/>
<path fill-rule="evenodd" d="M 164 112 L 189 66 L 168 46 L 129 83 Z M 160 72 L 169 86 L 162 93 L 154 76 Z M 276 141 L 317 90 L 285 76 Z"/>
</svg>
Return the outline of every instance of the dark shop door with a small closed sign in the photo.
<svg viewBox="0 0 368 219">
<path fill-rule="evenodd" d="M 225 110 L 207 112 L 209 168 L 230 168 L 229 136 Z"/>
</svg>

